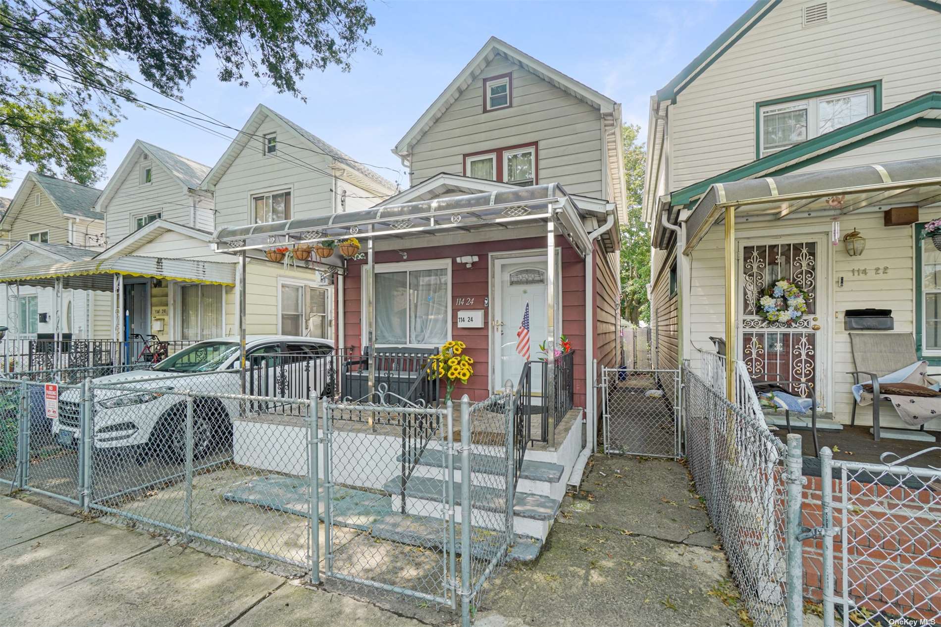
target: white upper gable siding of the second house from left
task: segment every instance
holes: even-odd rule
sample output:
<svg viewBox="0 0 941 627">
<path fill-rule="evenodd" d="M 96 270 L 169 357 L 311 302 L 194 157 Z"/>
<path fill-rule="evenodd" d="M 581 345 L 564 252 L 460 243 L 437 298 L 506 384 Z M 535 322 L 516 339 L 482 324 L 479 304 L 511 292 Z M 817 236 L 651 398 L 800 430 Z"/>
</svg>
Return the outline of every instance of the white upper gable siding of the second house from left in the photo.
<svg viewBox="0 0 941 627">
<path fill-rule="evenodd" d="M 145 164 L 152 168 L 150 184 L 140 182 Z M 183 185 L 167 169 L 153 158 L 145 161 L 138 155 L 111 200 L 102 207 L 108 245 L 133 233 L 135 217 L 145 214 L 160 212 L 165 220 L 192 226 L 192 204 Z"/>
</svg>

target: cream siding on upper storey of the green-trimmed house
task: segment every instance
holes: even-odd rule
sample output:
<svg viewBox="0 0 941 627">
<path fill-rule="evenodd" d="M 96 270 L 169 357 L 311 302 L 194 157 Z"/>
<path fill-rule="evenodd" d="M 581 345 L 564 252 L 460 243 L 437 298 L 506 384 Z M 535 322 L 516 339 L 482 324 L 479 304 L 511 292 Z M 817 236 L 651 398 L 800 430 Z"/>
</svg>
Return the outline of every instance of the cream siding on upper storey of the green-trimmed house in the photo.
<svg viewBox="0 0 941 627">
<path fill-rule="evenodd" d="M 941 13 L 830 0 L 829 23 L 804 28 L 803 4 L 781 2 L 680 92 L 669 109 L 671 190 L 755 159 L 757 102 L 881 79 L 885 110 L 941 89 Z"/>
</svg>

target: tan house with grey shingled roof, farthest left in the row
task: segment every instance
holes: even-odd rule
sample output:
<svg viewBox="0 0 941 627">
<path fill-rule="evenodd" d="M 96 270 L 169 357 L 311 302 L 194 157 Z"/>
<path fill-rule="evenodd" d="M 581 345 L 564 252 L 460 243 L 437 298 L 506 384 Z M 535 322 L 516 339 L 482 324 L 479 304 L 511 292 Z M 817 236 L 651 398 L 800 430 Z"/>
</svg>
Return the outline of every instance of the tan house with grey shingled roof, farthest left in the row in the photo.
<svg viewBox="0 0 941 627">
<path fill-rule="evenodd" d="M 0 268 L 40 269 L 57 263 L 88 259 L 104 244 L 104 215 L 95 210 L 102 191 L 29 172 L 9 201 L 0 231 L 8 233 L 8 249 L 0 255 Z M 75 338 L 96 337 L 94 312 L 106 307 L 104 299 L 65 290 L 56 307 L 52 281 L 21 284 L 4 281 L 0 324 L 11 336 L 35 338 L 56 332 L 56 311 L 61 330 Z M 17 297 L 19 295 L 19 297 Z"/>
</svg>

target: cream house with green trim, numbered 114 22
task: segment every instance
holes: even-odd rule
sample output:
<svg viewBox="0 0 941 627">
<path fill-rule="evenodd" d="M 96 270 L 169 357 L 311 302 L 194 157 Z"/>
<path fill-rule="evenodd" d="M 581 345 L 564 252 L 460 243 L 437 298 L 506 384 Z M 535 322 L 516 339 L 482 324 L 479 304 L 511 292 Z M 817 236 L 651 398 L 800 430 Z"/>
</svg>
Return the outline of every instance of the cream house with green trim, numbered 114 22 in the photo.
<svg viewBox="0 0 941 627">
<path fill-rule="evenodd" d="M 759 0 L 651 97 L 655 366 L 696 363 L 721 337 L 752 378 L 800 380 L 849 422 L 848 310 L 891 309 L 941 363 L 941 260 L 919 239 L 941 193 L 910 183 L 941 176 L 939 91 L 937 3 Z M 861 254 L 843 241 L 853 230 Z M 798 324 L 762 317 L 780 279 L 808 292 Z"/>
</svg>

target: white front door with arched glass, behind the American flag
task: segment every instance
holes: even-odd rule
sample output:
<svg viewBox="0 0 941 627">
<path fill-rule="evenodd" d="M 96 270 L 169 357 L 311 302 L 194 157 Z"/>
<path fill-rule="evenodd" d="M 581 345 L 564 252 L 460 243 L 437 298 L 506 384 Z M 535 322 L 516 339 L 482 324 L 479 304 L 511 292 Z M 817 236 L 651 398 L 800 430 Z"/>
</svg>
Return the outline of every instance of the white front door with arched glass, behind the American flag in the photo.
<svg viewBox="0 0 941 627">
<path fill-rule="evenodd" d="M 498 259 L 494 290 L 493 332 L 496 364 L 494 388 L 509 380 L 519 382 L 526 358 L 517 352 L 518 331 L 529 305 L 530 361 L 539 359 L 539 345 L 546 341 L 546 258 Z M 533 392 L 542 391 L 541 370 L 534 369 Z M 538 376 L 536 376 L 538 375 Z"/>
</svg>

